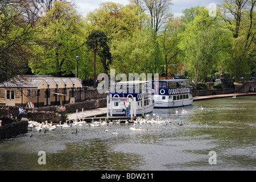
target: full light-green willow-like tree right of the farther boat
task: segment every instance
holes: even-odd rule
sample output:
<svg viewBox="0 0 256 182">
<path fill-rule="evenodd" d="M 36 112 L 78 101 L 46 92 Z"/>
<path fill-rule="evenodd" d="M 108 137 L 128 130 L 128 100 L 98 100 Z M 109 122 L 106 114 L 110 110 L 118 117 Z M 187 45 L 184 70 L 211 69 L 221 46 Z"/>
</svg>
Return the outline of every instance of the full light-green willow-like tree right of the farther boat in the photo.
<svg viewBox="0 0 256 182">
<path fill-rule="evenodd" d="M 207 80 L 207 75 L 217 69 L 225 49 L 230 48 L 230 31 L 221 26 L 218 17 L 211 17 L 205 7 L 195 7 L 190 22 L 179 34 L 184 63 L 192 79 Z M 190 11 L 191 12 L 191 11 Z M 187 19 L 187 18 L 186 18 Z"/>
</svg>

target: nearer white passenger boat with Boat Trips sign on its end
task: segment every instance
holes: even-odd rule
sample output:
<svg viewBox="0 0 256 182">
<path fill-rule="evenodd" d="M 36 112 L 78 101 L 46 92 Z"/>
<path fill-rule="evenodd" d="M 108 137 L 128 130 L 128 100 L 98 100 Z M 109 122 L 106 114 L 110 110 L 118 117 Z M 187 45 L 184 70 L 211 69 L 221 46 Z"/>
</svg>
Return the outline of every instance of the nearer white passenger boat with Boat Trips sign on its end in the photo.
<svg viewBox="0 0 256 182">
<path fill-rule="evenodd" d="M 125 116 L 125 104 L 131 102 L 134 116 L 152 113 L 154 109 L 152 81 L 121 81 L 110 84 L 110 116 Z"/>
</svg>

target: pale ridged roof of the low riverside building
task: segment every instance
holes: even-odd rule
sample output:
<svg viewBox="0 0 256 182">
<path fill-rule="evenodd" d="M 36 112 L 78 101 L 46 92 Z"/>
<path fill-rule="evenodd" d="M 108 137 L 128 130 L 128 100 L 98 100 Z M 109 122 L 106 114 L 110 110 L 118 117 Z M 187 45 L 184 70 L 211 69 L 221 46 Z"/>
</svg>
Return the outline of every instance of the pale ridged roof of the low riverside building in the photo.
<svg viewBox="0 0 256 182">
<path fill-rule="evenodd" d="M 53 77 L 51 75 L 23 75 L 2 82 L 0 88 L 81 88 L 82 81 L 71 77 Z"/>
</svg>

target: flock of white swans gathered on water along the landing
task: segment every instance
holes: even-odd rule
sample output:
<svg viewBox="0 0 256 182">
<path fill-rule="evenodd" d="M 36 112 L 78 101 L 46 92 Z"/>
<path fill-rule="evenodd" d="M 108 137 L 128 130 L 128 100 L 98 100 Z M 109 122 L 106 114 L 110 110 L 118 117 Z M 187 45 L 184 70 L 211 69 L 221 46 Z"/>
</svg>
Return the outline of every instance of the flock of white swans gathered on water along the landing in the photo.
<svg viewBox="0 0 256 182">
<path fill-rule="evenodd" d="M 203 110 L 203 107 L 200 107 L 201 110 Z M 187 113 L 187 111 L 182 108 L 182 110 L 180 111 L 182 114 Z M 178 114 L 179 111 L 177 111 L 177 109 L 174 111 L 175 114 Z M 152 114 L 152 118 L 149 119 L 151 115 L 150 114 L 146 114 L 146 119 L 144 118 L 140 118 L 137 117 L 136 120 L 134 120 L 133 123 L 133 127 L 130 127 L 131 131 L 148 131 L 148 128 L 146 126 L 152 126 L 152 125 L 164 125 L 164 126 L 169 126 L 170 123 L 172 124 L 177 124 L 177 126 L 183 126 L 182 121 L 179 123 L 175 123 L 174 122 L 174 118 L 171 118 L 169 115 L 168 119 L 162 119 L 159 118 L 158 115 L 156 114 Z M 79 119 L 79 121 L 66 121 L 63 124 L 61 124 L 61 122 L 59 122 L 59 124 L 53 124 L 52 122 L 48 123 L 48 121 L 45 122 L 36 122 L 36 121 L 28 121 L 28 130 L 32 131 L 32 130 L 36 130 L 39 133 L 40 132 L 44 132 L 46 133 L 49 130 L 57 130 L 57 129 L 64 129 L 64 128 L 70 128 L 70 127 L 82 127 L 82 126 L 86 126 L 86 127 L 102 127 L 102 126 L 106 126 L 106 130 L 105 132 L 108 133 L 108 127 L 111 126 L 112 124 L 119 124 L 123 121 L 121 121 L 121 119 L 119 119 L 118 121 L 115 122 L 107 122 L 106 119 L 105 121 L 102 121 L 100 119 L 100 121 L 94 121 L 94 119 L 92 118 L 92 122 L 88 123 L 86 121 L 81 121 L 81 119 Z M 129 124 L 130 120 L 125 120 L 125 124 Z M 144 126 L 143 126 L 144 125 Z M 77 134 L 77 129 L 76 132 L 73 132 L 72 134 Z M 113 133 L 113 135 L 117 135 L 118 134 L 118 130 L 116 132 Z M 31 135 L 32 137 L 32 135 Z"/>
</svg>

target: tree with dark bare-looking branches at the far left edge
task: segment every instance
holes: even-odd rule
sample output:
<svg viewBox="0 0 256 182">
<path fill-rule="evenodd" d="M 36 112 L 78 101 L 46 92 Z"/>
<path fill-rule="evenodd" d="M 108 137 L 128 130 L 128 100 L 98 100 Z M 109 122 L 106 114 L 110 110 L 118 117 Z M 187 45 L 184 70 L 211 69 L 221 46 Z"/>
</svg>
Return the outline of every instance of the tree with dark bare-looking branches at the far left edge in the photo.
<svg viewBox="0 0 256 182">
<path fill-rule="evenodd" d="M 38 42 L 40 27 L 34 27 L 23 14 L 19 2 L 0 2 L 0 81 L 28 71 L 31 46 Z"/>
</svg>

